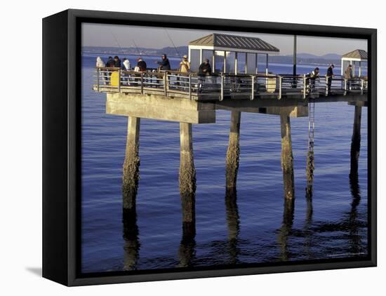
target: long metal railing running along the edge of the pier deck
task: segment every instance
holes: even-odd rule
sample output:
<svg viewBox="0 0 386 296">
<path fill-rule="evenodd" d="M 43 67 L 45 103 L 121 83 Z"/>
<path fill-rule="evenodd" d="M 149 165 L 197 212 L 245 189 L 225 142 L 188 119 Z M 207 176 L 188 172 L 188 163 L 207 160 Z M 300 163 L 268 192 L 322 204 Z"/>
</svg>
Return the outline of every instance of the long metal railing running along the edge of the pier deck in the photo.
<svg viewBox="0 0 386 296">
<path fill-rule="evenodd" d="M 162 94 L 187 97 L 190 100 L 254 100 L 258 97 L 346 95 L 350 92 L 363 94 L 367 79 L 344 79 L 341 76 L 320 76 L 312 79 L 307 75 L 287 74 L 212 74 L 197 73 L 134 72 L 120 68 L 97 67 L 94 90 L 105 93 Z"/>
</svg>

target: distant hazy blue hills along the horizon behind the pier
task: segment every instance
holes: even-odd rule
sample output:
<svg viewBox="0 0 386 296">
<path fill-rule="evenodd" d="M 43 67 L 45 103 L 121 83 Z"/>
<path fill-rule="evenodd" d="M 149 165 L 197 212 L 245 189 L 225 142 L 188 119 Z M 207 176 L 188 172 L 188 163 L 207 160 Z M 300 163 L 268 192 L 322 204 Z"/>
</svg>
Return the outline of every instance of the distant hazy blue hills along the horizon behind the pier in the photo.
<svg viewBox="0 0 386 296">
<path fill-rule="evenodd" d="M 95 53 L 101 55 L 162 55 L 166 53 L 169 57 L 180 58 L 182 55 L 187 55 L 187 46 L 177 46 L 176 48 L 168 46 L 164 48 L 143 48 L 143 47 L 101 47 L 101 46 L 84 46 L 83 53 Z M 261 55 L 259 60 L 264 60 Z M 331 63 L 340 64 L 340 55 L 336 53 L 328 53 L 326 55 L 312 55 L 310 53 L 298 53 L 297 60 L 299 64 L 316 64 L 328 65 Z M 292 55 L 270 55 L 269 62 L 285 62 L 292 63 Z"/>
</svg>

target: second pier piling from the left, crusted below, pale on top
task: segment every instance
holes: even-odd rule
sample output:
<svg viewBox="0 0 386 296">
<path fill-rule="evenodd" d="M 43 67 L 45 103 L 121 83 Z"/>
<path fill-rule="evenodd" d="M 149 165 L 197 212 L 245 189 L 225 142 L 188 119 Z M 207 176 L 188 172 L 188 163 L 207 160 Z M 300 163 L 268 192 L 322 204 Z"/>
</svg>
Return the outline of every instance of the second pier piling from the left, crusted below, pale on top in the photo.
<svg viewBox="0 0 386 296">
<path fill-rule="evenodd" d="M 180 197 L 183 236 L 195 234 L 196 169 L 194 168 L 192 123 L 180 123 Z"/>
</svg>

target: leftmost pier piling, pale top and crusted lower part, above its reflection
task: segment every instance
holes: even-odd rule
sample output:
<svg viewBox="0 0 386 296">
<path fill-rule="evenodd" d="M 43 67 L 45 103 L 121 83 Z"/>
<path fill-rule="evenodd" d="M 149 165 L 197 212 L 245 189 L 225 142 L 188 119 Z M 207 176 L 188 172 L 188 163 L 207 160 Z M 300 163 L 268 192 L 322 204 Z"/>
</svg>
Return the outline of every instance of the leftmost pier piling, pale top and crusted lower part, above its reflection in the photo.
<svg viewBox="0 0 386 296">
<path fill-rule="evenodd" d="M 124 209 L 128 210 L 135 208 L 135 197 L 137 195 L 138 180 L 140 178 L 139 136 L 140 118 L 131 116 L 128 119 L 122 188 Z"/>
</svg>

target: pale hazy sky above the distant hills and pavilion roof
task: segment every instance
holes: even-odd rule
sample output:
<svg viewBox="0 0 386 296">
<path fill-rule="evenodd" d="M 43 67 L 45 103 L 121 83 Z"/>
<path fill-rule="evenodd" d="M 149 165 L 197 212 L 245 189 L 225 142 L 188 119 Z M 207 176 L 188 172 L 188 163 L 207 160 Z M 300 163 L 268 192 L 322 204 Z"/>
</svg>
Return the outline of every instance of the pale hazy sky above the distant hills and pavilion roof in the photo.
<svg viewBox="0 0 386 296">
<path fill-rule="evenodd" d="M 291 55 L 293 53 L 292 35 L 104 24 L 83 24 L 82 46 L 133 47 L 136 45 L 145 48 L 163 48 L 173 46 L 171 40 L 175 46 L 187 46 L 189 41 L 220 32 L 255 36 L 279 48 L 280 55 Z M 171 37 L 170 39 L 168 35 Z M 367 41 L 363 39 L 298 36 L 298 53 L 311 53 L 314 55 L 338 53 L 342 55 L 354 51 L 354 49 L 367 51 Z"/>
</svg>

